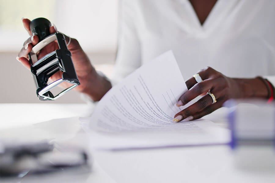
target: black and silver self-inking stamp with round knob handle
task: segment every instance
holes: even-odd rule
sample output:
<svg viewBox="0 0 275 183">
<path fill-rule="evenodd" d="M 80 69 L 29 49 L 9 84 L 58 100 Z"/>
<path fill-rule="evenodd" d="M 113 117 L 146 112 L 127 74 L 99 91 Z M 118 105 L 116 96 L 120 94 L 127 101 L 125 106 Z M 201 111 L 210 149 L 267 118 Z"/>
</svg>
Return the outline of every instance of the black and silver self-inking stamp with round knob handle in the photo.
<svg viewBox="0 0 275 183">
<path fill-rule="evenodd" d="M 31 33 L 37 35 L 39 38 L 39 42 L 29 53 L 31 73 L 36 85 L 36 95 L 43 101 L 55 100 L 80 84 L 64 35 L 59 32 L 50 34 L 50 26 L 50 21 L 45 18 L 36 18 L 30 23 Z M 50 52 L 38 60 L 36 54 L 55 40 L 58 43 L 59 49 Z M 62 72 L 62 78 L 48 84 L 49 77 L 58 71 Z M 71 83 L 72 86 L 54 96 L 50 90 L 63 82 Z"/>
</svg>

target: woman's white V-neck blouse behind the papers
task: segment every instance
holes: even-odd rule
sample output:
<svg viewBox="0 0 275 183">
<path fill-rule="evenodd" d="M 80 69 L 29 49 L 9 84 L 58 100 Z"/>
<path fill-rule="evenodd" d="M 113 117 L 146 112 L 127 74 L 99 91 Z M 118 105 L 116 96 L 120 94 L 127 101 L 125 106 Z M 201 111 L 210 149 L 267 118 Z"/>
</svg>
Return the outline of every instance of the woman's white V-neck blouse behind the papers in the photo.
<svg viewBox="0 0 275 183">
<path fill-rule="evenodd" d="M 218 0 L 203 25 L 189 0 L 120 1 L 112 82 L 168 50 L 185 80 L 211 66 L 229 77 L 266 76 L 275 86 L 275 1 Z"/>
</svg>

